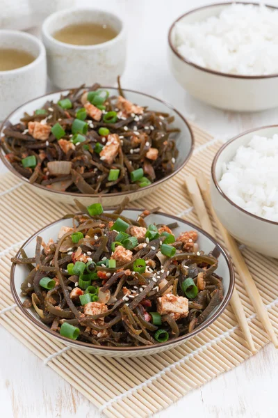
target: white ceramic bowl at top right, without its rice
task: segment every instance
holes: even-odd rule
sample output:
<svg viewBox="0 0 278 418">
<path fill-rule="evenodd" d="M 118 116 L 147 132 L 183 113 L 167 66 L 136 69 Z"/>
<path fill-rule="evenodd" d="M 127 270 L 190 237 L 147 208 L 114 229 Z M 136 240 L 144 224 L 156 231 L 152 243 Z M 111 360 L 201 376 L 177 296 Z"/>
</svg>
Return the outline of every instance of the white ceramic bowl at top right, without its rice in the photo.
<svg viewBox="0 0 278 418">
<path fill-rule="evenodd" d="M 190 10 L 174 21 L 168 34 L 169 61 L 174 77 L 195 98 L 221 109 L 259 111 L 277 107 L 278 95 L 273 92 L 278 90 L 278 74 L 244 76 L 208 70 L 183 58 L 175 47 L 174 25 L 177 22 L 200 22 L 219 15 L 230 5 L 218 3 L 203 6 Z"/>
</svg>

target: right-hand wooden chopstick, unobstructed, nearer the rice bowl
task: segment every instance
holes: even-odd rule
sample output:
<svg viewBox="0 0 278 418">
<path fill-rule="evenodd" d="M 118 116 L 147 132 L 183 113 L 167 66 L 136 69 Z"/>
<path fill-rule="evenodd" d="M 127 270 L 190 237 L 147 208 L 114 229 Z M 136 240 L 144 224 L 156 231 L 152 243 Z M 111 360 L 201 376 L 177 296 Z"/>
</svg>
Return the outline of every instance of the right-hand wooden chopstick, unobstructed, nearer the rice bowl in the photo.
<svg viewBox="0 0 278 418">
<path fill-rule="evenodd" d="M 275 345 L 275 348 L 278 348 L 277 335 L 275 334 L 275 330 L 272 327 L 272 323 L 270 322 L 270 318 L 268 316 L 268 311 L 266 310 L 265 305 L 263 304 L 261 295 L 259 294 L 259 291 L 256 288 L 256 284 L 250 274 L 250 271 L 247 268 L 245 260 L 243 256 L 240 254 L 238 246 L 236 245 L 236 241 L 234 240 L 234 238 L 231 237 L 227 229 L 224 228 L 224 226 L 221 224 L 220 220 L 215 214 L 215 211 L 211 204 L 211 196 L 209 194 L 208 181 L 206 180 L 204 173 L 199 173 L 199 175 L 197 176 L 197 182 L 204 196 L 206 204 L 209 210 L 211 210 L 211 214 L 213 215 L 213 218 L 215 219 L 215 222 L 222 235 L 225 245 L 229 253 L 231 254 L 231 258 L 233 259 L 234 264 L 236 265 L 236 270 L 238 270 L 240 279 L 241 281 L 243 281 L 243 284 L 254 306 L 256 314 L 258 314 L 259 319 L 261 320 L 261 323 L 263 324 L 263 327 L 265 328 L 265 331 L 268 333 L 268 336 L 270 337 L 270 341 L 272 341 L 272 343 Z"/>
</svg>

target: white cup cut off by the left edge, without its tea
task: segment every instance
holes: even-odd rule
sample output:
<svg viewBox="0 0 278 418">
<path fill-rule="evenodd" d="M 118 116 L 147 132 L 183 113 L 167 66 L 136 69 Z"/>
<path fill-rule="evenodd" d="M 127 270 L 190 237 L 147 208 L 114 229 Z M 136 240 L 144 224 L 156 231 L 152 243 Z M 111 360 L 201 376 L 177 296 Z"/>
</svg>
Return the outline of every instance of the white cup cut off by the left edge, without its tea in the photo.
<svg viewBox="0 0 278 418">
<path fill-rule="evenodd" d="M 0 121 L 3 121 L 21 104 L 45 94 L 47 61 L 44 45 L 29 33 L 0 30 L 0 48 L 19 49 L 35 57 L 24 67 L 0 71 Z"/>
</svg>

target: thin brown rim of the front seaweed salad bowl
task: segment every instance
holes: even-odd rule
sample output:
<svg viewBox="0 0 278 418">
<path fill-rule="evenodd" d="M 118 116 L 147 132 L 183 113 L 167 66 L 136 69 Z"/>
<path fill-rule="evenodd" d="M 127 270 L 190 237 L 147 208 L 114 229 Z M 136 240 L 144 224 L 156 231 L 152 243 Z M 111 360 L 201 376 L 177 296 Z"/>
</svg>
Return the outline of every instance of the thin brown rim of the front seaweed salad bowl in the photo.
<svg viewBox="0 0 278 418">
<path fill-rule="evenodd" d="M 115 210 L 115 207 L 106 207 L 104 208 L 104 210 Z M 126 208 L 126 210 L 133 210 L 136 212 L 139 212 L 140 210 L 144 210 L 144 209 L 140 209 L 140 208 Z M 192 224 L 191 222 L 186 221 L 185 219 L 182 219 L 180 217 L 177 217 L 175 215 L 169 215 L 165 212 L 156 212 L 158 215 L 163 215 L 166 217 L 169 217 L 171 219 L 174 219 L 176 221 L 181 222 L 182 224 L 186 224 L 190 227 L 192 227 L 193 229 L 196 229 L 199 233 L 202 233 L 203 235 L 206 236 L 206 238 L 208 238 L 209 240 L 211 240 L 211 242 L 213 242 L 213 244 L 215 245 L 215 247 L 217 247 L 220 250 L 220 253 L 224 256 L 224 261 L 226 261 L 227 266 L 229 268 L 229 288 L 227 289 L 227 293 L 224 296 L 223 302 L 221 307 L 218 307 L 217 311 L 215 311 L 215 313 L 213 314 L 213 316 L 204 321 L 204 323 L 202 323 L 199 327 L 197 327 L 195 330 L 193 330 L 192 332 L 189 332 L 186 335 L 181 335 L 175 339 L 170 339 L 168 341 L 166 341 L 165 343 L 156 343 L 153 346 L 140 346 L 140 347 L 106 347 L 106 346 L 96 346 L 95 344 L 90 344 L 90 343 L 85 343 L 84 341 L 78 341 L 78 340 L 69 340 L 67 338 L 65 338 L 64 336 L 61 336 L 60 334 L 58 334 L 57 332 L 52 331 L 49 327 L 47 327 L 47 325 L 44 325 L 43 323 L 40 322 L 40 320 L 38 320 L 37 318 L 35 318 L 34 316 L 32 316 L 28 309 L 24 308 L 21 300 L 19 299 L 19 295 L 15 289 L 15 268 L 17 266 L 16 263 L 13 263 L 11 268 L 10 268 L 10 290 L 12 292 L 13 298 L 17 304 L 17 307 L 19 307 L 19 309 L 22 311 L 22 314 L 24 314 L 29 320 L 31 320 L 31 322 L 36 325 L 37 327 L 39 327 L 40 329 L 42 329 L 43 331 L 46 331 L 48 334 L 50 334 L 51 336 L 56 337 L 57 339 L 60 339 L 63 343 L 65 343 L 66 345 L 73 344 L 75 348 L 91 348 L 91 349 L 96 349 L 96 350 L 101 350 L 101 351 L 113 351 L 113 352 L 119 352 L 119 353 L 125 353 L 125 352 L 137 352 L 137 351 L 145 351 L 145 350 L 149 350 L 152 348 L 159 348 L 159 347 L 165 347 L 165 346 L 172 346 L 172 343 L 177 343 L 179 341 L 186 341 L 186 339 L 190 339 L 192 336 L 194 336 L 195 334 L 198 334 L 199 332 L 201 332 L 202 330 L 204 330 L 206 327 L 208 327 L 209 325 L 211 325 L 217 318 L 218 316 L 220 316 L 223 311 L 226 309 L 227 304 L 229 303 L 229 300 L 231 299 L 231 295 L 234 291 L 234 286 L 235 286 L 235 274 L 234 274 L 234 266 L 233 263 L 231 261 L 231 258 L 229 256 L 229 254 L 227 254 L 227 251 L 222 247 L 222 245 L 220 245 L 210 234 L 206 233 L 206 231 L 204 231 L 203 229 L 199 228 L 199 226 L 196 226 L 194 224 Z M 40 229 L 39 231 L 36 231 L 35 233 L 33 233 L 33 235 L 31 235 L 30 238 L 28 238 L 28 240 L 26 240 L 24 242 L 24 244 L 22 245 L 21 248 L 26 247 L 26 245 L 28 245 L 29 242 L 31 242 L 38 234 L 42 233 L 45 229 L 49 228 L 49 226 L 53 226 L 54 224 L 58 224 L 58 222 L 62 221 L 63 218 L 57 219 L 54 222 L 51 222 L 50 224 L 44 226 L 42 229 Z M 17 251 L 17 254 L 15 255 L 16 257 L 19 256 L 19 250 Z"/>
</svg>

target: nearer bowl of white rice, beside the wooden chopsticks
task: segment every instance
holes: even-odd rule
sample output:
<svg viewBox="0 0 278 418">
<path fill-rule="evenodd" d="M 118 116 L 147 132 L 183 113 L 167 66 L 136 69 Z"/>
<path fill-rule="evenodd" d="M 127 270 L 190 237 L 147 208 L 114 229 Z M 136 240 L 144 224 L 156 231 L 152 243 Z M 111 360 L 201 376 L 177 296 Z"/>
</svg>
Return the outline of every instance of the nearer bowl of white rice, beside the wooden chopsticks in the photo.
<svg viewBox="0 0 278 418">
<path fill-rule="evenodd" d="M 278 258 L 278 125 L 240 134 L 218 150 L 211 201 L 236 240 Z"/>
</svg>

